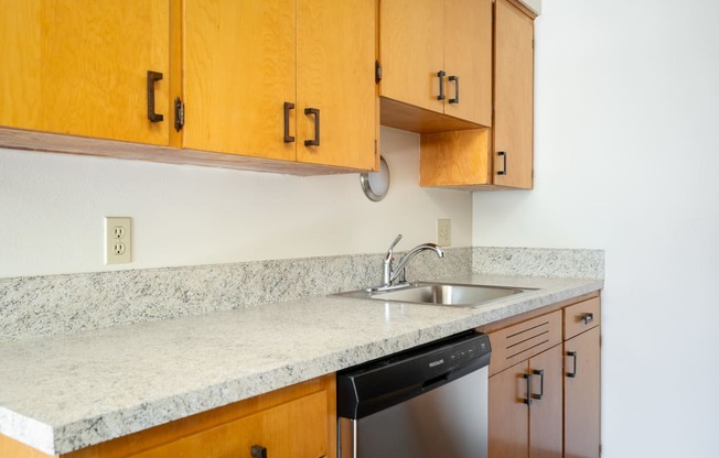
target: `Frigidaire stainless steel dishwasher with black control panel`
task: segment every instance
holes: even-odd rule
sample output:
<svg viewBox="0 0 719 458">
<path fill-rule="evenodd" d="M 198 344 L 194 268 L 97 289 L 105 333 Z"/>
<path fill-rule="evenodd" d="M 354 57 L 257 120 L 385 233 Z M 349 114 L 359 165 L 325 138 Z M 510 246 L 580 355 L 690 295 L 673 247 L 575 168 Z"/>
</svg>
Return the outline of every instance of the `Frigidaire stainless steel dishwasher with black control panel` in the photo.
<svg viewBox="0 0 719 458">
<path fill-rule="evenodd" d="M 463 332 L 337 373 L 340 458 L 486 458 L 487 336 Z"/>
</svg>

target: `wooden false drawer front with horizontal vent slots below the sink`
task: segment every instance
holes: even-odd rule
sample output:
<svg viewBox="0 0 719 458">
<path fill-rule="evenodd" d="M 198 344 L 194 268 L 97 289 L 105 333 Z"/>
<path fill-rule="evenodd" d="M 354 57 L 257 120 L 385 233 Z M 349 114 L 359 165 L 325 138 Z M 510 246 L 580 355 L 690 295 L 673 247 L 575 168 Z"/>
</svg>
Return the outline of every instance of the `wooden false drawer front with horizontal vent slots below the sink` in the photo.
<svg viewBox="0 0 719 458">
<path fill-rule="evenodd" d="M 561 342 L 561 310 L 490 332 L 490 375 Z"/>
</svg>

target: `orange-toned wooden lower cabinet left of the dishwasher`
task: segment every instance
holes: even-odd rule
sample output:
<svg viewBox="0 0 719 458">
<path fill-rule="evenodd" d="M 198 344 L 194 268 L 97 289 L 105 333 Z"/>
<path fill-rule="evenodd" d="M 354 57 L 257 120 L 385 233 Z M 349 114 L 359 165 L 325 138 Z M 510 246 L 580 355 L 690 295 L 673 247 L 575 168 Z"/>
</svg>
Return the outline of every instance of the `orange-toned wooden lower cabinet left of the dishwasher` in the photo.
<svg viewBox="0 0 719 458">
<path fill-rule="evenodd" d="M 334 374 L 84 448 L 61 458 L 270 458 L 336 455 Z M 0 452 L 44 458 L 0 435 Z M 4 457 L 6 455 L 0 454 Z"/>
</svg>

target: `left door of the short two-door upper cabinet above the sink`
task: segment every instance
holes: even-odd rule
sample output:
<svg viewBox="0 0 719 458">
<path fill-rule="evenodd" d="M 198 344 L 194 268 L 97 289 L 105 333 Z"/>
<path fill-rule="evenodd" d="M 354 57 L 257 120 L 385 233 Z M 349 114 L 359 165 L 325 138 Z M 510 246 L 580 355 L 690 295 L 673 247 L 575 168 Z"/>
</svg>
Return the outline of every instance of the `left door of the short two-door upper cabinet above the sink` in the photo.
<svg viewBox="0 0 719 458">
<path fill-rule="evenodd" d="M 380 95 L 443 112 L 438 100 L 444 68 L 444 2 L 382 0 L 379 11 Z"/>
</svg>

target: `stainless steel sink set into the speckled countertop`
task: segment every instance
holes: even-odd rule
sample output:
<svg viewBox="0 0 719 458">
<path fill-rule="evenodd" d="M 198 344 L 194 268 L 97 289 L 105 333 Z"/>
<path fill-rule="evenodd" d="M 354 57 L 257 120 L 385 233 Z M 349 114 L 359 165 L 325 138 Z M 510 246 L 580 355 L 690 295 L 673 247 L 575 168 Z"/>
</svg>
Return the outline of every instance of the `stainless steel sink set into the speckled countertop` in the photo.
<svg viewBox="0 0 719 458">
<path fill-rule="evenodd" d="M 397 301 L 417 304 L 471 307 L 533 290 L 534 288 L 487 285 L 411 283 L 407 286 L 400 286 L 396 290 L 360 290 L 348 293 L 340 293 L 339 295 L 378 301 Z"/>
</svg>

